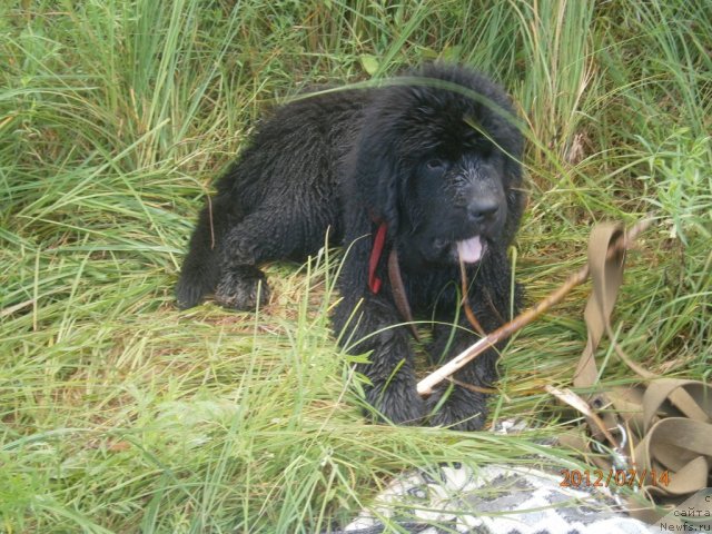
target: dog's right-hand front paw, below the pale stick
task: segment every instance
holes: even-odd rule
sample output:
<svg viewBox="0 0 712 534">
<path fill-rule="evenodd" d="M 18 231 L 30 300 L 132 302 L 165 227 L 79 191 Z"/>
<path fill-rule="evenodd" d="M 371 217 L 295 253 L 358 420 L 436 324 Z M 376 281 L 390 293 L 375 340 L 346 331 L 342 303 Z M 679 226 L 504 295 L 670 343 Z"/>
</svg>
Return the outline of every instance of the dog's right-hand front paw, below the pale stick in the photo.
<svg viewBox="0 0 712 534">
<path fill-rule="evenodd" d="M 479 431 L 487 419 L 487 395 L 455 386 L 441 403 L 446 390 L 443 387 L 428 397 L 428 424 L 454 431 Z"/>
</svg>

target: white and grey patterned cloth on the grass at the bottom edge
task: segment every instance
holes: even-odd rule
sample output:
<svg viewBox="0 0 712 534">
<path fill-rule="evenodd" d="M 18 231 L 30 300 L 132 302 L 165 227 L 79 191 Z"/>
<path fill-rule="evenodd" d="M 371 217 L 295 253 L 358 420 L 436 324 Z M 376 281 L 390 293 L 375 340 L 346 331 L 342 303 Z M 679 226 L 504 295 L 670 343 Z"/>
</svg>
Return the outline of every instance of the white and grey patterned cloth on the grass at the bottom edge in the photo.
<svg viewBox="0 0 712 534">
<path fill-rule="evenodd" d="M 518 425 L 510 425 L 510 429 Z M 503 432 L 502 428 L 498 432 Z M 506 433 L 507 429 L 504 429 Z M 411 471 L 333 534 L 649 534 L 602 487 L 562 487 L 530 466 L 462 463 Z"/>
</svg>

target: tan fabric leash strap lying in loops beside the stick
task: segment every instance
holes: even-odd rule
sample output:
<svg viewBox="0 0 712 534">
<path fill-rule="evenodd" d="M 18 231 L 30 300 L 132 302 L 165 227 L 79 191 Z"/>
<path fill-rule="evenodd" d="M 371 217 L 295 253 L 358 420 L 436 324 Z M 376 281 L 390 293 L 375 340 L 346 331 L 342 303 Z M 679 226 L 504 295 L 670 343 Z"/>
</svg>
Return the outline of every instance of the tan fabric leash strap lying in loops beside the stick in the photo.
<svg viewBox="0 0 712 534">
<path fill-rule="evenodd" d="M 574 386 L 592 389 L 599 372 L 595 352 L 607 334 L 619 357 L 641 377 L 641 385 L 599 390 L 587 397 L 594 411 L 602 412 L 607 429 L 619 425 L 627 434 L 625 456 L 633 463 L 639 487 L 660 505 L 678 504 L 685 496 L 708 487 L 712 467 L 712 388 L 698 380 L 661 378 L 631 360 L 615 344 L 611 327 L 611 314 L 623 281 L 624 251 L 611 254 L 614 244 L 624 233 L 621 225 L 597 225 L 589 241 L 589 267 L 593 290 L 584 318 L 589 332 L 586 347 L 581 355 L 573 378 Z M 594 439 L 602 441 L 603 433 L 587 417 Z M 571 443 L 571 442 L 568 442 Z M 590 453 L 587 445 L 578 446 Z M 613 443 L 613 448 L 620 444 Z M 615 468 L 613 462 L 594 459 L 600 467 Z M 653 472 L 657 479 L 653 479 Z M 668 473 L 665 483 L 660 476 Z M 642 475 L 645 474 L 645 477 Z M 633 503 L 630 503 L 633 504 Z M 640 502 L 634 502 L 640 506 Z M 632 514 L 654 521 L 661 512 L 649 508 L 633 510 Z"/>
</svg>

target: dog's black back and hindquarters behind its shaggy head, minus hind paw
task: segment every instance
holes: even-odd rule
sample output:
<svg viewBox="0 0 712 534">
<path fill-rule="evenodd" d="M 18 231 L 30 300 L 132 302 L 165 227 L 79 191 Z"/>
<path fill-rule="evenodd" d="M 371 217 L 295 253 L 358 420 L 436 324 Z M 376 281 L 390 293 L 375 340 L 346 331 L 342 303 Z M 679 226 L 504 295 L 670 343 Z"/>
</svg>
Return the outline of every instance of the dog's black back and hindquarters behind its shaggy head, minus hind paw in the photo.
<svg viewBox="0 0 712 534">
<path fill-rule="evenodd" d="M 249 248 L 243 239 L 248 234 L 259 237 L 260 250 L 269 250 L 269 257 L 247 258 L 250 265 L 303 260 L 324 245 L 327 229 L 333 243 L 340 241 L 339 162 L 353 146 L 369 95 L 337 90 L 300 97 L 258 125 L 199 216 L 176 289 L 180 307 L 215 290 L 225 249 Z M 243 224 L 271 235 L 255 236 L 240 229 Z"/>
</svg>

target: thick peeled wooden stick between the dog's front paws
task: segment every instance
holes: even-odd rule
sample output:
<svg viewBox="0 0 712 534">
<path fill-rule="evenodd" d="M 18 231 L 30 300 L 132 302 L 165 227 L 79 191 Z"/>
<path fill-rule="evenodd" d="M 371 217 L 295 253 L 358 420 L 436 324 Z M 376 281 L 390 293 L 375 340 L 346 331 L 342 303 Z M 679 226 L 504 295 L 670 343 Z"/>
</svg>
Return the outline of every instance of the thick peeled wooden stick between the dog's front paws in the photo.
<svg viewBox="0 0 712 534">
<path fill-rule="evenodd" d="M 607 257 L 611 258 L 615 254 L 619 254 L 621 250 L 627 250 L 633 241 L 637 238 L 637 236 L 651 226 L 652 221 L 652 219 L 643 219 L 640 222 L 633 225 L 627 231 L 623 234 L 622 237 L 620 237 L 613 245 L 611 245 L 611 247 L 609 247 Z M 554 290 L 546 298 L 540 300 L 533 307 L 524 310 L 510 323 L 505 323 L 496 330 L 487 334 L 469 348 L 466 348 L 453 359 L 451 359 L 447 364 L 439 367 L 438 369 L 423 378 L 421 382 L 418 382 L 418 394 L 422 396 L 431 395 L 433 393 L 433 387 L 467 365 L 469 362 L 484 353 L 487 348 L 493 347 L 501 340 L 510 337 L 515 332 L 524 328 L 530 323 L 533 323 L 548 308 L 563 300 L 568 291 L 585 281 L 587 277 L 589 264 L 584 265 L 581 270 L 578 270 L 578 273 L 568 277 L 568 279 L 558 289 Z"/>
</svg>

